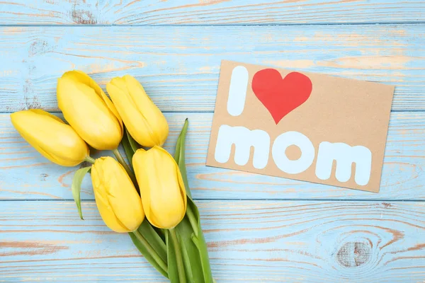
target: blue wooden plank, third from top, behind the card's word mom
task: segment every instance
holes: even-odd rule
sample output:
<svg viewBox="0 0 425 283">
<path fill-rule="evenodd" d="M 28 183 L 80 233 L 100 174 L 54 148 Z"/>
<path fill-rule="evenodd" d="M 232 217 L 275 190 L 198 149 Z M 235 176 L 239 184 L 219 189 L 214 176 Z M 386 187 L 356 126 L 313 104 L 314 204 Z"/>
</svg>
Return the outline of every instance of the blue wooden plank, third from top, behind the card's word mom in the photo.
<svg viewBox="0 0 425 283">
<path fill-rule="evenodd" d="M 207 167 L 212 113 L 166 113 L 170 135 L 165 148 L 171 153 L 186 117 L 186 161 L 196 199 L 425 199 L 425 112 L 392 112 L 379 194 Z M 72 200 L 76 168 L 49 163 L 23 141 L 8 115 L 0 115 L 0 129 L 0 199 Z M 89 176 L 82 187 L 82 199 L 93 200 Z"/>
</svg>

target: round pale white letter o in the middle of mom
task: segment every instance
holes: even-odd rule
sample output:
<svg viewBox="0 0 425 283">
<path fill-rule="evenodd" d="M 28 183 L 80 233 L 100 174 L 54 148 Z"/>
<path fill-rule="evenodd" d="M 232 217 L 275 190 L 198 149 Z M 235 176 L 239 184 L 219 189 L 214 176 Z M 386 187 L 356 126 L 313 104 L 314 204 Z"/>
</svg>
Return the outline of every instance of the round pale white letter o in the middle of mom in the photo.
<svg viewBox="0 0 425 283">
<path fill-rule="evenodd" d="M 290 160 L 285 154 L 288 146 L 298 146 L 301 151 L 301 156 L 297 160 Z M 285 132 L 273 142 L 271 155 L 278 168 L 289 174 L 297 174 L 307 170 L 314 161 L 314 146 L 312 141 L 300 132 Z"/>
</svg>

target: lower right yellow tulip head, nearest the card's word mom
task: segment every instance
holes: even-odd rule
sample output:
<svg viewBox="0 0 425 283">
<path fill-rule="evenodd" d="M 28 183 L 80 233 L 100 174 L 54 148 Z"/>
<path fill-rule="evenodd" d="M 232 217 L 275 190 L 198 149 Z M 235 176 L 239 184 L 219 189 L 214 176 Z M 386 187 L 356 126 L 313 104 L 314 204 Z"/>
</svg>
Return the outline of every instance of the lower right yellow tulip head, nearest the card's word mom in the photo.
<svg viewBox="0 0 425 283">
<path fill-rule="evenodd" d="M 186 190 L 179 166 L 165 149 L 138 149 L 132 158 L 149 222 L 172 229 L 186 214 Z"/>
</svg>

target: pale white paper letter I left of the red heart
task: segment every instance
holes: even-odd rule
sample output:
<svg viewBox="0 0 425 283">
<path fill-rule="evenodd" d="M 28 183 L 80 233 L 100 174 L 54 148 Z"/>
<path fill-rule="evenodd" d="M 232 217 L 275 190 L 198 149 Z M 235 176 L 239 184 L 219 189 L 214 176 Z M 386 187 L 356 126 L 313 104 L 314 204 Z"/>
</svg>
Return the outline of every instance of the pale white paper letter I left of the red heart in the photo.
<svg viewBox="0 0 425 283">
<path fill-rule="evenodd" d="M 233 69 L 227 98 L 227 112 L 232 116 L 239 116 L 244 111 L 248 78 L 248 70 L 245 67 L 237 66 Z"/>
</svg>

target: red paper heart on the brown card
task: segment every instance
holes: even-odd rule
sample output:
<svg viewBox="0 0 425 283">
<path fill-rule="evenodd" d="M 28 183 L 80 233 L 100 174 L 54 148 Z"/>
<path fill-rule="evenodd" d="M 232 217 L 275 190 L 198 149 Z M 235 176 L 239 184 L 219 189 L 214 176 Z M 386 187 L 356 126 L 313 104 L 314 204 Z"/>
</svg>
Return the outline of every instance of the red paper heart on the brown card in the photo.
<svg viewBox="0 0 425 283">
<path fill-rule="evenodd" d="M 266 106 L 278 125 L 285 115 L 300 106 L 312 93 L 312 81 L 303 74 L 293 71 L 282 79 L 279 71 L 263 69 L 252 79 L 252 91 Z"/>
</svg>

